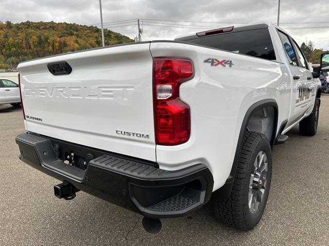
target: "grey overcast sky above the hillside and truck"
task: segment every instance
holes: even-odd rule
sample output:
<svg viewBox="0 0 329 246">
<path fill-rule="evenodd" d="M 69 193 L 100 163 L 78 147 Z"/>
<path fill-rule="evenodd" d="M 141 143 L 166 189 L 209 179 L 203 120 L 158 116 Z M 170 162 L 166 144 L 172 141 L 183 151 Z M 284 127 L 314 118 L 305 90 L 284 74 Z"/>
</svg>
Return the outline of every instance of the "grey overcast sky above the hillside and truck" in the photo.
<svg viewBox="0 0 329 246">
<path fill-rule="evenodd" d="M 280 26 L 299 44 L 307 37 L 316 48 L 329 49 L 328 6 L 328 0 L 281 0 Z M 142 40 L 154 40 L 260 20 L 276 23 L 278 0 L 102 0 L 102 8 L 106 28 L 134 38 L 140 18 Z M 1 0 L 0 21 L 6 20 L 99 26 L 99 0 Z"/>
</svg>

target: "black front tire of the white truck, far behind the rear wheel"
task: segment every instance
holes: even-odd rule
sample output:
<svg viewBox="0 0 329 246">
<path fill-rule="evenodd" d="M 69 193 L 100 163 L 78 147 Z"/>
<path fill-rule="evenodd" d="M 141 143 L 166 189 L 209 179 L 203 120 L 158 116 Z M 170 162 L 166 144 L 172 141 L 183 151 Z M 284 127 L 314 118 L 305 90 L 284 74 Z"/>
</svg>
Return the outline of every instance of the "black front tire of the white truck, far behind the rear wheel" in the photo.
<svg viewBox="0 0 329 246">
<path fill-rule="evenodd" d="M 319 99 L 315 99 L 312 113 L 299 122 L 300 134 L 314 136 L 317 133 L 319 121 Z"/>
</svg>

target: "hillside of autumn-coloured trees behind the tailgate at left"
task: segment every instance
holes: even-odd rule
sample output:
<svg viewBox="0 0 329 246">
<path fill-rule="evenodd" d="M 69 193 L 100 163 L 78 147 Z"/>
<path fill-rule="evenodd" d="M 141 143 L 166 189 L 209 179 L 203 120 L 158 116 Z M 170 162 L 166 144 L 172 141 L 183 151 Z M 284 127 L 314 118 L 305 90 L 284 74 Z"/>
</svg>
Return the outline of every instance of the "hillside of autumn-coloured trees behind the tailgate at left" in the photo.
<svg viewBox="0 0 329 246">
<path fill-rule="evenodd" d="M 104 29 L 105 45 L 133 42 L 127 36 Z M 42 56 L 100 47 L 101 30 L 69 23 L 0 22 L 0 69 Z"/>
</svg>

